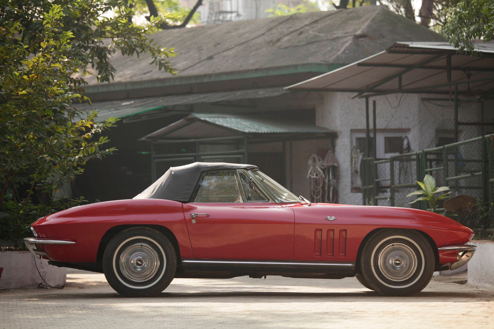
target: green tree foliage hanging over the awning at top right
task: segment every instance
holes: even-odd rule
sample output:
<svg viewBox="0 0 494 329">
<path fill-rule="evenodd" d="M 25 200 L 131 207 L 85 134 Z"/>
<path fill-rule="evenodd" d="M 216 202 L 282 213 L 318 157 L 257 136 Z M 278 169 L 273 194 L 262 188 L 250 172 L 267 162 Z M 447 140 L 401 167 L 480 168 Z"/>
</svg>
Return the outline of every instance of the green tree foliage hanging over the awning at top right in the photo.
<svg viewBox="0 0 494 329">
<path fill-rule="evenodd" d="M 474 52 L 473 40 L 494 40 L 493 0 L 461 0 L 447 12 L 443 35 L 458 49 Z"/>
</svg>

